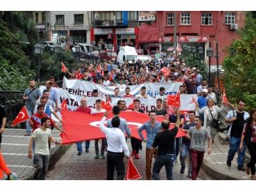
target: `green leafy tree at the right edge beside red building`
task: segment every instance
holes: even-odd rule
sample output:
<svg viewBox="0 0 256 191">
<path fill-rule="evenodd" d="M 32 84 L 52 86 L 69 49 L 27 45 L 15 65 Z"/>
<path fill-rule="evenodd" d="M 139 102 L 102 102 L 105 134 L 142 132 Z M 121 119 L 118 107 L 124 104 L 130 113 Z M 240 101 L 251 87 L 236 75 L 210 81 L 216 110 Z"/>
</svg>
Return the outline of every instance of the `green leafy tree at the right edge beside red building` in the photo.
<svg viewBox="0 0 256 191">
<path fill-rule="evenodd" d="M 224 87 L 231 103 L 244 98 L 248 107 L 256 107 L 256 19 L 252 12 L 238 34 L 240 39 L 229 46 L 230 56 L 223 61 Z"/>
</svg>

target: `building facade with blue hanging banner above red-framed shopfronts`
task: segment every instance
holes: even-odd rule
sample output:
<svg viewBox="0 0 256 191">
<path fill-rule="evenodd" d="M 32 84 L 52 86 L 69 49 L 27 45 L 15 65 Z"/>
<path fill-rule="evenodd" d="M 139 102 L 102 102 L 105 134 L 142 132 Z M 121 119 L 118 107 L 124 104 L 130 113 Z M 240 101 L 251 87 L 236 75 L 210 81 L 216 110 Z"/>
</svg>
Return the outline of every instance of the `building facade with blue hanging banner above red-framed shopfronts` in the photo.
<svg viewBox="0 0 256 191">
<path fill-rule="evenodd" d="M 150 23 L 155 19 L 155 12 L 92 12 L 91 41 L 102 49 L 112 44 L 116 51 L 119 46 L 136 46 L 140 22 Z"/>
</svg>

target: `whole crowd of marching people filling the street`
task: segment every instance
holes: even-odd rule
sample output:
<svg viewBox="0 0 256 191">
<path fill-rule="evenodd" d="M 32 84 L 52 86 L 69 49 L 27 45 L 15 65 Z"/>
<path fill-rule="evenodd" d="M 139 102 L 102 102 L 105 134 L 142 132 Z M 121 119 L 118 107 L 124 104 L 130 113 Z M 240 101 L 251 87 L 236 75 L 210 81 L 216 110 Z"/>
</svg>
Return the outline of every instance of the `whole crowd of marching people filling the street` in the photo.
<svg viewBox="0 0 256 191">
<path fill-rule="evenodd" d="M 102 108 L 102 99 L 99 97 L 99 90 L 92 91 L 92 97 L 99 97 L 95 101 L 95 108 L 87 106 L 86 97 L 81 98 L 80 106 L 77 112 L 87 114 L 104 113 L 100 129 L 106 134 L 106 138 L 95 140 L 95 159 L 106 159 L 107 161 L 107 179 L 114 179 L 114 169 L 116 169 L 117 178 L 124 179 L 125 169 L 123 157 L 134 157 L 140 159 L 139 151 L 142 148 L 141 142 L 146 143 L 146 176 L 147 179 L 160 179 L 159 172 L 163 166 L 166 169 L 167 179 L 173 179 L 173 166 L 175 161 L 181 162 L 180 173 L 185 173 L 185 159 L 189 156 L 188 177 L 197 179 L 199 169 L 202 165 L 204 153 L 211 153 L 214 138 L 218 131 L 219 113 L 223 110 L 216 105 L 216 95 L 213 93 L 213 87 L 209 86 L 207 80 L 202 79 L 200 70 L 194 67 L 186 66 L 179 58 L 165 56 L 162 60 L 151 62 L 136 63 L 131 61 L 123 63 L 119 68 L 111 61 L 101 64 L 88 64 L 78 68 L 77 71 L 66 70 L 69 79 L 88 80 L 103 86 L 116 86 L 111 97 L 119 97 L 116 106 L 112 106 L 113 117 L 107 121 L 107 127 L 104 125 L 108 112 Z M 156 107 L 148 113 L 150 121 L 147 121 L 139 129 L 138 133 L 141 140 L 133 138 L 126 119 L 120 118 L 121 111 L 133 110 L 144 112 L 140 108 L 140 97 L 149 97 L 146 87 L 141 87 L 140 94 L 135 97 L 130 94 L 129 85 L 143 83 L 162 83 L 162 82 L 182 82 L 179 87 L 180 94 L 198 94 L 195 111 L 189 111 L 189 114 L 181 114 L 178 107 L 171 107 L 167 103 L 167 96 L 164 94 L 164 87 L 159 90 Z M 29 159 L 33 159 L 33 165 L 37 169 L 36 179 L 45 179 L 47 166 L 49 162 L 50 142 L 60 144 L 51 137 L 50 128 L 61 128 L 50 118 L 51 114 L 61 122 L 57 111 L 57 92 L 52 87 L 57 87 L 54 77 L 46 82 L 46 89 L 43 94 L 36 87 L 35 80 L 30 80 L 29 88 L 24 92 L 23 99 L 26 101 L 26 110 L 31 116 L 26 122 L 26 136 L 31 135 L 29 142 Z M 125 87 L 125 94 L 119 94 L 119 88 Z M 132 97 L 133 105 L 128 107 L 125 98 Z M 225 120 L 232 124 L 230 128 L 230 148 L 227 155 L 227 166 L 231 166 L 234 155 L 238 151 L 238 170 L 246 171 L 251 179 L 256 179 L 254 174 L 256 161 L 256 110 L 251 114 L 244 111 L 244 101 L 237 101 L 237 108 L 227 114 Z M 1 129 L 0 144 L 2 133 L 5 129 L 6 114 L 0 107 Z M 196 115 L 199 114 L 199 115 Z M 163 115 L 164 121 L 156 120 L 157 115 Z M 170 124 L 175 128 L 169 130 Z M 175 138 L 178 129 L 186 132 L 186 136 Z M 146 131 L 147 138 L 141 133 Z M 131 152 L 126 145 L 127 138 L 130 138 L 132 145 Z M 208 147 L 206 147 L 208 140 Z M 99 142 L 101 149 L 99 150 Z M 90 141 L 85 142 L 85 152 L 89 152 Z M 251 155 L 251 162 L 244 167 L 245 149 L 247 148 Z M 1 145 L 0 145 L 1 146 Z M 82 152 L 82 142 L 77 143 L 78 155 Z M 105 156 L 105 152 L 107 154 Z M 155 158 L 153 169 L 151 168 L 152 159 Z M 10 175 L 12 172 L 8 172 Z"/>
</svg>

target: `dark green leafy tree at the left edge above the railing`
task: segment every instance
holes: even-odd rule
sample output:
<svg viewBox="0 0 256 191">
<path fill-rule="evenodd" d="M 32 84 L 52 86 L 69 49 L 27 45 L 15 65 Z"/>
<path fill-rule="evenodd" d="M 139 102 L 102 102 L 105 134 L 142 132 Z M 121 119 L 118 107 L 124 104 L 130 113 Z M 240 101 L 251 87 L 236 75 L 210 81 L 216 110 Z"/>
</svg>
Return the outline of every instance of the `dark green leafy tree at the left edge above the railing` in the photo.
<svg viewBox="0 0 256 191">
<path fill-rule="evenodd" d="M 25 55 L 16 34 L 10 32 L 0 19 L 0 90 L 20 90 L 35 77 L 29 69 L 29 57 Z"/>
</svg>

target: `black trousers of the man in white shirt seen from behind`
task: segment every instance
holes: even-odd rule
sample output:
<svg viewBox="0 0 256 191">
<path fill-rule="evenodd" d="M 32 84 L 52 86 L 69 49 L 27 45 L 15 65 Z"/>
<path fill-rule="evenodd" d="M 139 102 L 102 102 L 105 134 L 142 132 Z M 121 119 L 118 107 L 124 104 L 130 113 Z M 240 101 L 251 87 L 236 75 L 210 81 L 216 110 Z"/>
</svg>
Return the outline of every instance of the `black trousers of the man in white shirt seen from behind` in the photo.
<svg viewBox="0 0 256 191">
<path fill-rule="evenodd" d="M 123 163 L 123 152 L 107 153 L 107 180 L 114 179 L 114 170 L 116 169 L 116 179 L 123 180 L 125 176 L 125 167 Z"/>
</svg>

